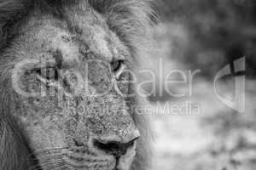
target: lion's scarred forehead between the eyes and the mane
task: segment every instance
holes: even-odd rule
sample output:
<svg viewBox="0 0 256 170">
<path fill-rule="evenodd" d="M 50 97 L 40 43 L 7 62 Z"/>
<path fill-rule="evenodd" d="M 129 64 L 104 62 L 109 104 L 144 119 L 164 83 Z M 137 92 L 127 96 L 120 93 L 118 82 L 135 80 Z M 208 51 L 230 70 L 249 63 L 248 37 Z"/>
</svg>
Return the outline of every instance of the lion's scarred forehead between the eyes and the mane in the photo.
<svg viewBox="0 0 256 170">
<path fill-rule="evenodd" d="M 89 19 L 92 17 L 101 18 L 101 22 L 91 22 Z M 35 14 L 27 20 L 26 25 L 20 28 L 21 36 L 17 38 L 20 40 L 20 48 L 30 54 L 31 58 L 57 49 L 61 50 L 67 60 L 79 59 L 79 55 L 87 53 L 106 61 L 129 56 L 125 45 L 110 31 L 99 14 L 73 14 L 65 20 Z"/>
</svg>

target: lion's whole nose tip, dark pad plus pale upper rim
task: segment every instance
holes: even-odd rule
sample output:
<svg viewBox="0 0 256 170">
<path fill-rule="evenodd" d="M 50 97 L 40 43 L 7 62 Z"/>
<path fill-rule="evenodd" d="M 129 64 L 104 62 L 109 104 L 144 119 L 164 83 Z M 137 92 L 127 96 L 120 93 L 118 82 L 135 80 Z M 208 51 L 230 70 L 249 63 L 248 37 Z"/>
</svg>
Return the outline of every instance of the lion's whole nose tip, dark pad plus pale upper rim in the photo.
<svg viewBox="0 0 256 170">
<path fill-rule="evenodd" d="M 139 139 L 139 137 L 139 131 L 134 131 L 122 139 L 113 135 L 103 139 L 95 139 L 94 146 L 99 150 L 105 151 L 109 155 L 119 158 L 120 156 L 124 156 L 126 151 L 136 144 L 136 141 Z"/>
</svg>

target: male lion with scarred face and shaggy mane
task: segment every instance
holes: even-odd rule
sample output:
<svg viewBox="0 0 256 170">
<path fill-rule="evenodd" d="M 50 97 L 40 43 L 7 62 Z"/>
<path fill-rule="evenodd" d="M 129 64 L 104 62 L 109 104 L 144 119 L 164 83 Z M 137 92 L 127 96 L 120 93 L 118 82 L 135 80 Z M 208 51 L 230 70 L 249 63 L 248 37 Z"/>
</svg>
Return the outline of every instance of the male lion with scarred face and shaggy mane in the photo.
<svg viewBox="0 0 256 170">
<path fill-rule="evenodd" d="M 3 0 L 1 170 L 148 170 L 150 122 L 131 83 L 149 0 Z"/>
</svg>

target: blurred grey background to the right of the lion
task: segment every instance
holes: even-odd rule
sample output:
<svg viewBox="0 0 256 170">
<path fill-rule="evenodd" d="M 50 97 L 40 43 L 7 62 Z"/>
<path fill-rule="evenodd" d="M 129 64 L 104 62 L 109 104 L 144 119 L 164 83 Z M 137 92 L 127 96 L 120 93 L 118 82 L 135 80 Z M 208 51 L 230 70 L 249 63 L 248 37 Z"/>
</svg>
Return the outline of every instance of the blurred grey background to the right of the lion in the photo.
<svg viewBox="0 0 256 170">
<path fill-rule="evenodd" d="M 144 87 L 154 108 L 154 170 L 255 170 L 256 1 L 158 0 L 156 9 L 156 49 L 143 61 L 157 75 L 155 87 Z M 242 57 L 246 71 L 237 73 L 234 62 Z M 236 78 L 246 75 L 245 111 L 224 105 L 214 92 L 214 78 L 226 65 L 230 74 L 218 79 L 218 94 L 235 99 Z M 165 85 L 172 70 L 196 74 L 192 82 Z M 178 72 L 169 78 L 184 80 Z M 182 109 L 164 109 L 170 105 Z"/>
</svg>

